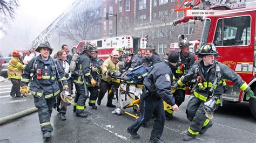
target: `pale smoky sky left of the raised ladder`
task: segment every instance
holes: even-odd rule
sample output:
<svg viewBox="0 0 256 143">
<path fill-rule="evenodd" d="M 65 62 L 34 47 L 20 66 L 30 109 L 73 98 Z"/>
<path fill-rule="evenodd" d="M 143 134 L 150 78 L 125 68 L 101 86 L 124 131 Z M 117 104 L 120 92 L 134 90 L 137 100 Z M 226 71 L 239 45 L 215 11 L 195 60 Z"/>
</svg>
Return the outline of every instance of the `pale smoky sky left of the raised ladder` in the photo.
<svg viewBox="0 0 256 143">
<path fill-rule="evenodd" d="M 6 34 L 0 34 L 3 56 L 14 49 L 31 48 L 32 40 L 73 2 L 75 0 L 19 0 L 15 19 L 4 26 Z"/>
</svg>

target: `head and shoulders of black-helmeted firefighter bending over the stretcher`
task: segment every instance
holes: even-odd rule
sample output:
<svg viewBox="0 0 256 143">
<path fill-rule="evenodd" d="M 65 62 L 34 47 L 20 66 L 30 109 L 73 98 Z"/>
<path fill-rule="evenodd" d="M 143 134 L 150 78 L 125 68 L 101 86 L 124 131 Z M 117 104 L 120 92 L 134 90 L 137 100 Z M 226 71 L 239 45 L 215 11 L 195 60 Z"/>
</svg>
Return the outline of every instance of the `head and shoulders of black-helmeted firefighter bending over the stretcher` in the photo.
<svg viewBox="0 0 256 143">
<path fill-rule="evenodd" d="M 125 64 L 122 67 L 122 71 L 132 70 L 142 65 L 142 60 L 140 60 L 137 56 L 133 56 L 130 51 L 125 51 L 122 56 L 125 59 Z"/>
</svg>

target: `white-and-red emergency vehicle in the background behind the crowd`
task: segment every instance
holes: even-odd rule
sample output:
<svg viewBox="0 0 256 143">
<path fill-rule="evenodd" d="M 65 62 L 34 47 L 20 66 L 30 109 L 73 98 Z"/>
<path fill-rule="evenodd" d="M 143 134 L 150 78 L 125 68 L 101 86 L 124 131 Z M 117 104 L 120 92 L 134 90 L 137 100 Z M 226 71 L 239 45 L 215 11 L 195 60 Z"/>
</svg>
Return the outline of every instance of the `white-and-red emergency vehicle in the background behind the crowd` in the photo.
<svg viewBox="0 0 256 143">
<path fill-rule="evenodd" d="M 129 47 L 132 53 L 136 54 L 138 49 L 142 49 L 142 53 L 145 53 L 146 48 L 146 38 L 134 37 L 130 35 L 97 39 L 97 40 L 83 40 L 80 41 L 76 47 L 76 52 L 80 53 L 83 51 L 85 44 L 91 44 L 98 47 L 99 53 L 98 58 L 100 61 L 109 58 L 109 54 L 116 47 Z"/>
</svg>

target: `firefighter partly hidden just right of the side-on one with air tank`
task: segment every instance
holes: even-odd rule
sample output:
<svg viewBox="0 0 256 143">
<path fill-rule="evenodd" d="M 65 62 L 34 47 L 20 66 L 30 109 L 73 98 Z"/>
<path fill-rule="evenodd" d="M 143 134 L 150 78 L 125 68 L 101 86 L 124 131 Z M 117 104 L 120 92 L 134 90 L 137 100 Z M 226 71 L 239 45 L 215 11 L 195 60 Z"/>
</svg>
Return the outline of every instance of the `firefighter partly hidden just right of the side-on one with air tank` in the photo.
<svg viewBox="0 0 256 143">
<path fill-rule="evenodd" d="M 89 85 L 88 90 L 90 91 L 90 98 L 89 98 L 89 106 L 92 107 L 92 109 L 97 109 L 97 106 L 95 105 L 96 99 L 99 95 L 99 83 L 101 81 L 100 77 L 100 65 L 99 60 L 97 58 L 97 49 L 93 47 L 92 51 L 90 51 L 90 59 L 91 59 L 91 75 L 93 79 L 97 82 L 97 85 L 95 87 L 92 87 L 92 85 Z"/>
</svg>

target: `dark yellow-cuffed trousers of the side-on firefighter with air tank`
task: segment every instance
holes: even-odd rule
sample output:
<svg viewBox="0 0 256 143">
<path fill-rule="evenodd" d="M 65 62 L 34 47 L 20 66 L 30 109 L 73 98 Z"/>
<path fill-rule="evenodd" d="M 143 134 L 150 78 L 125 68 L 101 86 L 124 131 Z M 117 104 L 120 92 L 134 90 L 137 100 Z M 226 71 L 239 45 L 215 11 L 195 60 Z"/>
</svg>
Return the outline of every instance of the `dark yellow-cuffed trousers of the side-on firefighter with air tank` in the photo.
<svg viewBox="0 0 256 143">
<path fill-rule="evenodd" d="M 74 106 L 76 106 L 76 113 L 83 113 L 85 102 L 88 96 L 85 96 L 84 84 L 75 84 L 76 87 L 76 97 Z"/>
</svg>

